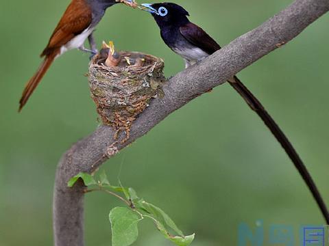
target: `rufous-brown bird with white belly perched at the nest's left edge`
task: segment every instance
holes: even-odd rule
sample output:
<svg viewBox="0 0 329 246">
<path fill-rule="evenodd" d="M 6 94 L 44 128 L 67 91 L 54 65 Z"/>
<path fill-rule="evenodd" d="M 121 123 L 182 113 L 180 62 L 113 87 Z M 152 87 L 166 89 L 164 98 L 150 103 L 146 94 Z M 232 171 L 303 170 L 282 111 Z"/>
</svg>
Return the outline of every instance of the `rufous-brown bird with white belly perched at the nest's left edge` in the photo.
<svg viewBox="0 0 329 246">
<path fill-rule="evenodd" d="M 125 3 L 136 8 L 134 0 L 72 0 L 53 31 L 46 48 L 40 57 L 44 57 L 34 76 L 29 79 L 19 101 L 19 111 L 40 83 L 53 61 L 71 49 L 97 53 L 93 31 L 103 17 L 106 9 L 117 3 Z M 90 49 L 84 47 L 88 38 Z"/>
</svg>

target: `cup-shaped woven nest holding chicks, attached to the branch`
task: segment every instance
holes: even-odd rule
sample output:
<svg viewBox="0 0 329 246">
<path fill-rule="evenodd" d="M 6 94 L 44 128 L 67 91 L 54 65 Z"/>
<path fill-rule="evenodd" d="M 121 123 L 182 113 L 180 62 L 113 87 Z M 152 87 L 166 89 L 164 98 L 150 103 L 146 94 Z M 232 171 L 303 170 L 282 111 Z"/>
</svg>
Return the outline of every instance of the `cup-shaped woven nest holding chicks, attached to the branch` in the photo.
<svg viewBox="0 0 329 246">
<path fill-rule="evenodd" d="M 91 97 L 103 124 L 112 126 L 117 139 L 125 133 L 122 142 L 130 137 L 134 120 L 148 106 L 152 98 L 162 97 L 164 62 L 158 57 L 136 52 L 121 51 L 118 66 L 105 66 L 105 59 L 95 55 L 90 61 L 89 85 Z M 131 65 L 130 61 L 143 59 L 143 64 Z M 129 64 L 130 63 L 130 64 Z"/>
</svg>

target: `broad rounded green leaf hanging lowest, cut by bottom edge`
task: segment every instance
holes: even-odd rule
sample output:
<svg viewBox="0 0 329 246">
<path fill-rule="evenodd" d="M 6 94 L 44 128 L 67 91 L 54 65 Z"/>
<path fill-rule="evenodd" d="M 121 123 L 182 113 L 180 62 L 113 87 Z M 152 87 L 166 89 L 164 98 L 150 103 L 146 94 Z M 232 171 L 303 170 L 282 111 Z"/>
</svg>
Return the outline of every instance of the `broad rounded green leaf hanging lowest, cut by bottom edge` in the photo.
<svg viewBox="0 0 329 246">
<path fill-rule="evenodd" d="M 138 237 L 137 224 L 141 217 L 130 208 L 113 208 L 110 211 L 112 246 L 132 245 Z"/>
</svg>

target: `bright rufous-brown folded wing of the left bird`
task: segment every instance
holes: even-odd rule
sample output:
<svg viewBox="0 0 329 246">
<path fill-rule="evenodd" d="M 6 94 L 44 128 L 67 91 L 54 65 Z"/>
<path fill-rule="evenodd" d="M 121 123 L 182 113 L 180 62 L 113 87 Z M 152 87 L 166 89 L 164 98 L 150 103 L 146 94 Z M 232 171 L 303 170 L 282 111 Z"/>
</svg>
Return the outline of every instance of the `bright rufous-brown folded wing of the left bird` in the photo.
<svg viewBox="0 0 329 246">
<path fill-rule="evenodd" d="M 71 1 L 41 56 L 49 55 L 53 51 L 60 49 L 61 46 L 82 33 L 90 25 L 91 21 L 92 13 L 86 1 Z"/>
</svg>

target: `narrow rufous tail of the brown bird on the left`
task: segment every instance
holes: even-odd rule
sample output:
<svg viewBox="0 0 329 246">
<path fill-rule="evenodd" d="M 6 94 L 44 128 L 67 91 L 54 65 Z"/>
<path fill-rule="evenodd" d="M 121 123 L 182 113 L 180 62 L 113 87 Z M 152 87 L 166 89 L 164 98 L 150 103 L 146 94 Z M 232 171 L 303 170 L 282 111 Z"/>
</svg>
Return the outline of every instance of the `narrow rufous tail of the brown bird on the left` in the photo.
<svg viewBox="0 0 329 246">
<path fill-rule="evenodd" d="M 32 95 L 32 93 L 40 83 L 42 77 L 45 75 L 48 68 L 53 63 L 53 59 L 55 59 L 55 57 L 56 55 L 54 54 L 47 55 L 47 57 L 45 57 L 45 59 L 42 61 L 42 64 L 40 64 L 40 67 L 36 71 L 36 74 L 34 74 L 34 76 L 29 80 L 29 82 L 25 86 L 21 100 L 19 100 L 19 111 L 23 109 L 27 100 L 29 100 L 29 97 Z"/>
</svg>

